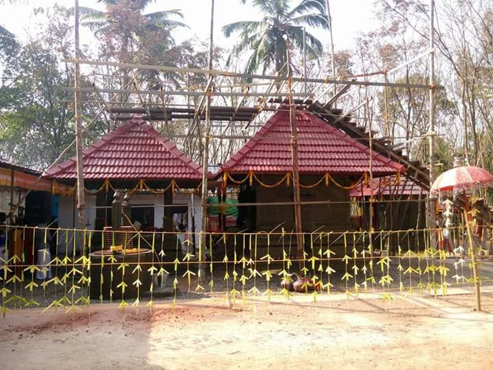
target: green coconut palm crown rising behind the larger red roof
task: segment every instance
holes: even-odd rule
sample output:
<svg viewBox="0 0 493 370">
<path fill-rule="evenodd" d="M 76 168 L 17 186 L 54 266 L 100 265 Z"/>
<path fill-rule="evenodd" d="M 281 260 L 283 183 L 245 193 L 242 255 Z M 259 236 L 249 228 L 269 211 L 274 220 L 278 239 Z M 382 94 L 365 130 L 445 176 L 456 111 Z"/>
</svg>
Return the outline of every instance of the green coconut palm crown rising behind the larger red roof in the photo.
<svg viewBox="0 0 493 370">
<path fill-rule="evenodd" d="M 232 56 L 251 51 L 245 73 L 255 73 L 260 67 L 265 73 L 274 66 L 276 71 L 286 75 L 287 69 L 283 66 L 288 42 L 302 50 L 303 27 L 329 29 L 324 0 L 301 0 L 294 8 L 290 8 L 289 0 L 252 0 L 252 3 L 263 15 L 262 20 L 240 21 L 223 27 L 226 37 L 240 34 L 228 62 Z M 318 59 L 323 51 L 322 42 L 309 32 L 305 32 L 305 40 L 307 56 Z"/>
</svg>

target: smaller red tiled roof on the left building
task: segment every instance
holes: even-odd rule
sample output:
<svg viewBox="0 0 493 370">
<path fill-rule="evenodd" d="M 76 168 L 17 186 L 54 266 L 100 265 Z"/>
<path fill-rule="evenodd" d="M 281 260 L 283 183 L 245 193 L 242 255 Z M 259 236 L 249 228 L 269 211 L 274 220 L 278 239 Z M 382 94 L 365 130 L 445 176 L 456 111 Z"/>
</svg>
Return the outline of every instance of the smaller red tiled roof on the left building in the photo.
<svg viewBox="0 0 493 370">
<path fill-rule="evenodd" d="M 45 176 L 76 179 L 75 157 Z M 201 180 L 202 170 L 151 125 L 134 117 L 84 151 L 84 179 Z"/>
</svg>

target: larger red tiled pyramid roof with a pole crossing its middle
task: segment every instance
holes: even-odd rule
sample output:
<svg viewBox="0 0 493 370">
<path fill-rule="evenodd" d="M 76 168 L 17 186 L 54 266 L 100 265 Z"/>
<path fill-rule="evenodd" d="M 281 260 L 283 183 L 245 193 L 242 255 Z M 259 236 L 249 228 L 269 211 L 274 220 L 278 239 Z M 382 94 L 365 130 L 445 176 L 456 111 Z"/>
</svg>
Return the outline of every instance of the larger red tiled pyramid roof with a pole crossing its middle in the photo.
<svg viewBox="0 0 493 370">
<path fill-rule="evenodd" d="M 300 173 L 357 175 L 370 171 L 370 150 L 316 115 L 296 112 Z M 289 112 L 278 110 L 221 169 L 229 173 L 292 171 Z M 373 151 L 374 175 L 403 171 L 403 166 Z"/>
</svg>

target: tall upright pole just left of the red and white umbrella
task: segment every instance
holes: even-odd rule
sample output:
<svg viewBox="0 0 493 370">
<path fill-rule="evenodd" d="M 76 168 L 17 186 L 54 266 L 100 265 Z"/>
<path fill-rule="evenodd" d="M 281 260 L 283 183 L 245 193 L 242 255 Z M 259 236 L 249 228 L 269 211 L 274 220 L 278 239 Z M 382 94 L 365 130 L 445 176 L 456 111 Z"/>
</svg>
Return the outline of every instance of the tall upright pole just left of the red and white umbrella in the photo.
<svg viewBox="0 0 493 370">
<path fill-rule="evenodd" d="M 430 55 L 429 55 L 429 84 L 431 89 L 429 90 L 429 180 L 430 186 L 435 182 L 435 0 L 430 0 L 430 28 L 429 28 L 429 42 L 430 42 Z M 435 227 L 435 201 L 429 197 L 429 223 L 428 227 Z M 434 236 L 435 233 L 431 233 L 431 245 L 435 245 Z"/>
</svg>

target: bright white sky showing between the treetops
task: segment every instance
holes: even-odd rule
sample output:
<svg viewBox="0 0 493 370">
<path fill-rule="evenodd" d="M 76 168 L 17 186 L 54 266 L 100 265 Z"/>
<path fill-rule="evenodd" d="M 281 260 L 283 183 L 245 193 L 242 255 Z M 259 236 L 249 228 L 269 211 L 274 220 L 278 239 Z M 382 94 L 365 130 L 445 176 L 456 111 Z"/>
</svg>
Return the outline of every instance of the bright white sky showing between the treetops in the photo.
<svg viewBox="0 0 493 370">
<path fill-rule="evenodd" d="M 16 34 L 21 40 L 28 32 L 36 33 L 33 29 L 35 8 L 45 8 L 55 3 L 66 7 L 73 6 L 73 0 L 18 0 L 15 5 L 0 5 L 0 25 Z M 252 5 L 241 5 L 240 0 L 216 0 L 214 12 L 214 43 L 224 49 L 233 46 L 234 38 L 225 38 L 220 29 L 223 25 L 236 21 L 254 21 L 259 18 L 258 11 Z M 292 4 L 298 3 L 292 0 Z M 372 28 L 374 22 L 372 9 L 374 0 L 330 0 L 333 21 L 333 38 L 335 49 L 349 49 L 359 32 L 366 32 Z M 97 0 L 79 0 L 80 6 L 104 9 Z M 190 27 L 175 32 L 175 40 L 181 42 L 187 38 L 197 36 L 199 40 L 208 40 L 210 29 L 210 0 L 157 0 L 151 3 L 146 12 L 158 10 L 180 9 L 184 13 L 184 22 Z M 355 11 L 357 10 L 357 11 Z M 351 16 L 349 16 L 351 14 Z M 351 19 L 351 21 L 348 21 Z M 329 33 L 314 30 L 314 34 L 329 45 Z M 88 29 L 81 29 L 81 43 L 89 45 L 92 34 Z"/>
</svg>

